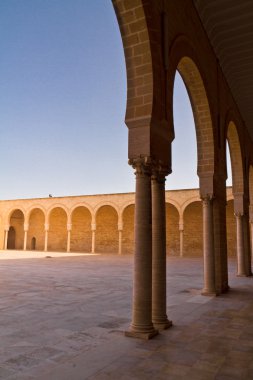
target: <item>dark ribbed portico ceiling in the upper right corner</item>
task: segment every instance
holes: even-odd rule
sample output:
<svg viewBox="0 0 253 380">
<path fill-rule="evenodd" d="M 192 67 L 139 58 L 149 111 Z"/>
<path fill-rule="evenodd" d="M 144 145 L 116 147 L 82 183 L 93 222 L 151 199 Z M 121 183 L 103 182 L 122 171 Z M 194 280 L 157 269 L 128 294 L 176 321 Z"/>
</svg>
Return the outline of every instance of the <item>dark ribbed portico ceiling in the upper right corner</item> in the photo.
<svg viewBox="0 0 253 380">
<path fill-rule="evenodd" d="M 193 3 L 253 141 L 253 1 Z"/>
</svg>

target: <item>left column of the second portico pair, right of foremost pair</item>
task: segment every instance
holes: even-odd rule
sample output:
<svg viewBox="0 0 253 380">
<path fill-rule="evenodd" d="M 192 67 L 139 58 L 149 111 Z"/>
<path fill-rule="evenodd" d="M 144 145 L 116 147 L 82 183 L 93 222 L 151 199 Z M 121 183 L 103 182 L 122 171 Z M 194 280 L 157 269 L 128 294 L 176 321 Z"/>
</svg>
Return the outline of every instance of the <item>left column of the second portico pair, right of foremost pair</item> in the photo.
<svg viewBox="0 0 253 380">
<path fill-rule="evenodd" d="M 216 296 L 212 196 L 206 195 L 205 197 L 202 197 L 202 204 L 204 251 L 204 288 L 202 290 L 202 295 Z"/>
</svg>

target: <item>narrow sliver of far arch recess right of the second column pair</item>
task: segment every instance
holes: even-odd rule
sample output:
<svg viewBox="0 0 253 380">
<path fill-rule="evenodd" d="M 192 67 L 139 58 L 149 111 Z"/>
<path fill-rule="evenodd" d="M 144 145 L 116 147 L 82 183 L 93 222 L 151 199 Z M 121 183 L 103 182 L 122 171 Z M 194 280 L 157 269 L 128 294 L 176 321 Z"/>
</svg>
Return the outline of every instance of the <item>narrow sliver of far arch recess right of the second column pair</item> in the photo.
<svg viewBox="0 0 253 380">
<path fill-rule="evenodd" d="M 234 200 L 227 201 L 226 206 L 227 225 L 227 254 L 236 257 L 236 219 L 234 216 Z"/>
</svg>

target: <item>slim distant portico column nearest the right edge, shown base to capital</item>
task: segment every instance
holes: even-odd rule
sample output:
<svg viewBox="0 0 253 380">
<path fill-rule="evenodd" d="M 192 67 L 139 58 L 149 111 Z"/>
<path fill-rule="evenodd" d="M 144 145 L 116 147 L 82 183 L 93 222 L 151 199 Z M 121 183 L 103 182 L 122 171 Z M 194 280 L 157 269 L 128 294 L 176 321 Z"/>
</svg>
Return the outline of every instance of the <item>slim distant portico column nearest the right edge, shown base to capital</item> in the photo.
<svg viewBox="0 0 253 380">
<path fill-rule="evenodd" d="M 236 250 L 237 250 L 237 276 L 247 276 L 244 256 L 243 215 L 235 213 L 236 217 Z"/>
</svg>

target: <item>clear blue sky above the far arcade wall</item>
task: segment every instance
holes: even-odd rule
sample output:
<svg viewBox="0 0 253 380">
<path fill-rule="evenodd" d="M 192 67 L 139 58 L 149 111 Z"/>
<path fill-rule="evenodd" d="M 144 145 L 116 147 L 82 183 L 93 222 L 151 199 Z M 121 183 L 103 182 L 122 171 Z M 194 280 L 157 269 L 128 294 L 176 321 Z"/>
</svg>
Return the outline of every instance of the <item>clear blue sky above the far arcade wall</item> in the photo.
<svg viewBox="0 0 253 380">
<path fill-rule="evenodd" d="M 0 47 L 0 199 L 134 191 L 111 1 L 1 0 Z M 194 188 L 192 110 L 179 75 L 174 87 L 166 189 Z"/>
</svg>

